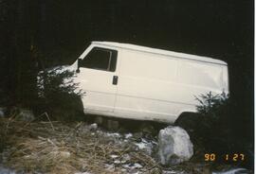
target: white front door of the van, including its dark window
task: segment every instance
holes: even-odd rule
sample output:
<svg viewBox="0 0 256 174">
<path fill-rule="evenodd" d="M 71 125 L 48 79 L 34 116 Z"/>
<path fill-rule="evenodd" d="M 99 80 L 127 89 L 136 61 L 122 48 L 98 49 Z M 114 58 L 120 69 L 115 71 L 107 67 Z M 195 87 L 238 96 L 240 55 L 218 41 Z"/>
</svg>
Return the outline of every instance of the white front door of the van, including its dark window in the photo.
<svg viewBox="0 0 256 174">
<path fill-rule="evenodd" d="M 82 60 L 77 78 L 86 93 L 82 98 L 85 113 L 114 112 L 117 58 L 117 50 L 93 47 Z"/>
</svg>

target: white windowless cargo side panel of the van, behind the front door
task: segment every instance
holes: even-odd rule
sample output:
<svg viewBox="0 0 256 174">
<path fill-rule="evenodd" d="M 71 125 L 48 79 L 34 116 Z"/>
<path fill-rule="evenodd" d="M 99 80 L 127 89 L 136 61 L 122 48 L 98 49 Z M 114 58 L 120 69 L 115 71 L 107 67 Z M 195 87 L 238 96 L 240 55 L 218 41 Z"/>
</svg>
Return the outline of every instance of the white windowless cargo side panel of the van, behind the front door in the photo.
<svg viewBox="0 0 256 174">
<path fill-rule="evenodd" d="M 195 96 L 221 93 L 222 77 L 219 65 L 123 49 L 114 113 L 172 123 L 183 111 L 196 111 Z"/>
</svg>

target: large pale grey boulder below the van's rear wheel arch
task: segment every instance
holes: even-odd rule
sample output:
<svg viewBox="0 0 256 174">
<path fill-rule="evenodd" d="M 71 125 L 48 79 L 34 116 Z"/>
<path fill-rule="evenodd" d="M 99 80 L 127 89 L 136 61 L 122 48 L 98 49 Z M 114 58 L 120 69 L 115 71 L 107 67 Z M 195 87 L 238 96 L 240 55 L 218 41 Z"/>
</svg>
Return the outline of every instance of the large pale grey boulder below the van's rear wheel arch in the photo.
<svg viewBox="0 0 256 174">
<path fill-rule="evenodd" d="M 157 154 L 162 165 L 177 165 L 190 160 L 193 148 L 187 131 L 173 126 L 160 130 Z"/>
</svg>

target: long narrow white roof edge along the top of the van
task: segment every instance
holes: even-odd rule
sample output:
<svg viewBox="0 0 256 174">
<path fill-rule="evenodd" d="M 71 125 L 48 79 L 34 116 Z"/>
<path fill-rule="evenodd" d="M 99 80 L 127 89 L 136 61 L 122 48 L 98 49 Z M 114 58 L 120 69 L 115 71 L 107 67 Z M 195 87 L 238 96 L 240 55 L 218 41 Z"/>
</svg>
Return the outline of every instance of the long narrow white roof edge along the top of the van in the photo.
<svg viewBox="0 0 256 174">
<path fill-rule="evenodd" d="M 194 61 L 207 61 L 207 62 L 227 65 L 227 62 L 225 62 L 225 61 L 215 60 L 215 59 L 212 59 L 209 57 L 196 56 L 196 55 L 192 55 L 192 54 L 179 53 L 179 52 L 168 51 L 168 50 L 163 50 L 163 49 L 156 49 L 156 48 L 146 47 L 146 46 L 139 46 L 139 45 L 130 44 L 130 43 L 114 43 L 114 42 L 92 42 L 92 43 L 126 48 L 126 49 L 133 49 L 133 50 L 162 54 L 162 55 L 168 55 L 168 56 L 173 56 L 173 57 L 178 57 L 178 58 L 183 58 L 183 59 L 188 59 L 188 60 L 194 60 Z"/>
</svg>

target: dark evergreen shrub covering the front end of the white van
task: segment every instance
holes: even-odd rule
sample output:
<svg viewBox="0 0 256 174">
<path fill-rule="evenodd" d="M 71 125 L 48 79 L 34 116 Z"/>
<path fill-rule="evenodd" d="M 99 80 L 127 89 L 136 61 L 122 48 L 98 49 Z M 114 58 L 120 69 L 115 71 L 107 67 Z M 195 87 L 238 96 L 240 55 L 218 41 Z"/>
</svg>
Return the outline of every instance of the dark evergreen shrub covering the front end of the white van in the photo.
<svg viewBox="0 0 256 174">
<path fill-rule="evenodd" d="M 81 97 L 84 93 L 78 89 L 73 78 L 74 72 L 62 67 L 45 70 L 38 75 L 37 113 L 48 113 L 58 120 L 81 119 L 83 113 Z"/>
</svg>

